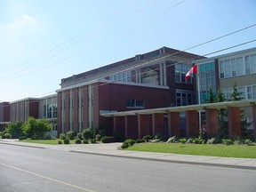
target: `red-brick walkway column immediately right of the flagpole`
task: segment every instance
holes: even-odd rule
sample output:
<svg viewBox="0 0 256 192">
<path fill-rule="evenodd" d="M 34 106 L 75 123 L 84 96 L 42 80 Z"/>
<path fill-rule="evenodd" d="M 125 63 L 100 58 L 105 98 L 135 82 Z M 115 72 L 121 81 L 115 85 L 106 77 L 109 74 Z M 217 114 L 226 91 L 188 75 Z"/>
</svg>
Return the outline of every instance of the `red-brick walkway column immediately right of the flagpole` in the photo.
<svg viewBox="0 0 256 192">
<path fill-rule="evenodd" d="M 218 134 L 218 110 L 215 108 L 206 108 L 206 134 L 208 137 L 213 137 Z"/>
</svg>

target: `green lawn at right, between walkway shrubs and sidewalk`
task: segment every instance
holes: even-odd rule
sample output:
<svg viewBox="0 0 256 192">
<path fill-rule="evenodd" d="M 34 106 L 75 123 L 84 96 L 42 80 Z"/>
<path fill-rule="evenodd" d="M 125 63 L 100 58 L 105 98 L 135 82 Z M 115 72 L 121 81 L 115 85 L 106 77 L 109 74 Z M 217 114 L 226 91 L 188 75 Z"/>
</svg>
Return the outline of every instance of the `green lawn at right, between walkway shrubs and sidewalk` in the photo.
<svg viewBox="0 0 256 192">
<path fill-rule="evenodd" d="M 196 156 L 226 156 L 238 158 L 256 158 L 256 146 L 238 145 L 196 145 L 180 143 L 140 143 L 125 150 L 158 153 L 173 153 Z"/>
</svg>

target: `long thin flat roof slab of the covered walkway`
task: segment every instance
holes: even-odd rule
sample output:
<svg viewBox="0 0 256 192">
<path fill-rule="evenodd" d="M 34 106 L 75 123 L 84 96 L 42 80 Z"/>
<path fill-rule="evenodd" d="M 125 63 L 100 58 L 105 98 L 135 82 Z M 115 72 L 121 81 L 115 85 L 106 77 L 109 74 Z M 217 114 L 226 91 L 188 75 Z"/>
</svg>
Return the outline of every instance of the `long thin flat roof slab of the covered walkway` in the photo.
<svg viewBox="0 0 256 192">
<path fill-rule="evenodd" d="M 122 111 L 122 112 L 112 112 L 104 113 L 100 116 L 112 117 L 112 116 L 137 116 L 137 115 L 150 115 L 150 114 L 165 114 L 168 112 L 182 112 L 187 110 L 204 110 L 207 108 L 228 108 L 228 107 L 250 107 L 256 106 L 256 100 L 237 100 L 237 101 L 226 101 L 218 103 L 206 103 L 198 105 L 188 105 L 180 107 L 170 107 L 170 108 L 150 108 L 150 109 L 140 109 L 140 110 L 131 110 L 131 111 Z"/>
</svg>

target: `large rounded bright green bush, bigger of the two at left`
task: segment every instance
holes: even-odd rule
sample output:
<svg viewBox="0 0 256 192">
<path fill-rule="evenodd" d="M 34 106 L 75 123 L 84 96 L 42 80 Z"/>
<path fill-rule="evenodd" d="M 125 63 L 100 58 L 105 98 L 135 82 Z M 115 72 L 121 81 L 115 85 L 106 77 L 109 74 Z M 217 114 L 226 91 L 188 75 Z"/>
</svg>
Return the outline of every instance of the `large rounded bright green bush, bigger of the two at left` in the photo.
<svg viewBox="0 0 256 192">
<path fill-rule="evenodd" d="M 22 130 L 28 138 L 44 139 L 45 133 L 52 130 L 52 124 L 45 119 L 28 117 L 28 121 L 23 124 Z"/>
</svg>

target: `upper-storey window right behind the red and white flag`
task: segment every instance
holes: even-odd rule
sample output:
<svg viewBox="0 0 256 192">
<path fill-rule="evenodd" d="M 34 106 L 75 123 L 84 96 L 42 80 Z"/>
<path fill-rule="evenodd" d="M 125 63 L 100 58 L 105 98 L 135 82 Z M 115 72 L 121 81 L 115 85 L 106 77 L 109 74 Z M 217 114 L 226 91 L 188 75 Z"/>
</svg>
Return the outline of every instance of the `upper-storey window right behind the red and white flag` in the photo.
<svg viewBox="0 0 256 192">
<path fill-rule="evenodd" d="M 186 81 L 185 76 L 188 73 L 188 70 L 191 68 L 186 64 L 176 64 L 175 65 L 175 82 L 176 83 L 188 83 L 192 84 L 193 75 L 190 76 L 189 80 Z"/>
</svg>

